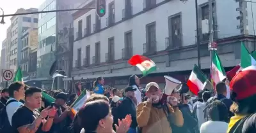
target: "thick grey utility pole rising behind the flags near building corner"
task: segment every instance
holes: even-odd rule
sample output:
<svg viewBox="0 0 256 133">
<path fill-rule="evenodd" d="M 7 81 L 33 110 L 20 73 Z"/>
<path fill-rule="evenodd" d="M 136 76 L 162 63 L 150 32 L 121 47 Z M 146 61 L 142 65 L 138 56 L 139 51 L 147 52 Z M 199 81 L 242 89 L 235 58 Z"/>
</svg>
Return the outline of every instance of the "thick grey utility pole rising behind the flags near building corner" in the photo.
<svg viewBox="0 0 256 133">
<path fill-rule="evenodd" d="M 214 35 L 214 31 L 213 31 L 213 21 L 212 21 L 212 0 L 209 0 L 209 34 L 210 34 L 210 38 L 209 38 L 209 51 L 210 51 L 210 60 L 211 60 L 211 67 L 210 67 L 210 73 L 211 73 L 211 77 L 212 77 L 212 50 L 214 50 L 214 48 L 212 48 L 212 43 L 213 43 L 213 35 Z M 211 82 L 212 82 L 212 78 L 211 78 Z"/>
</svg>

